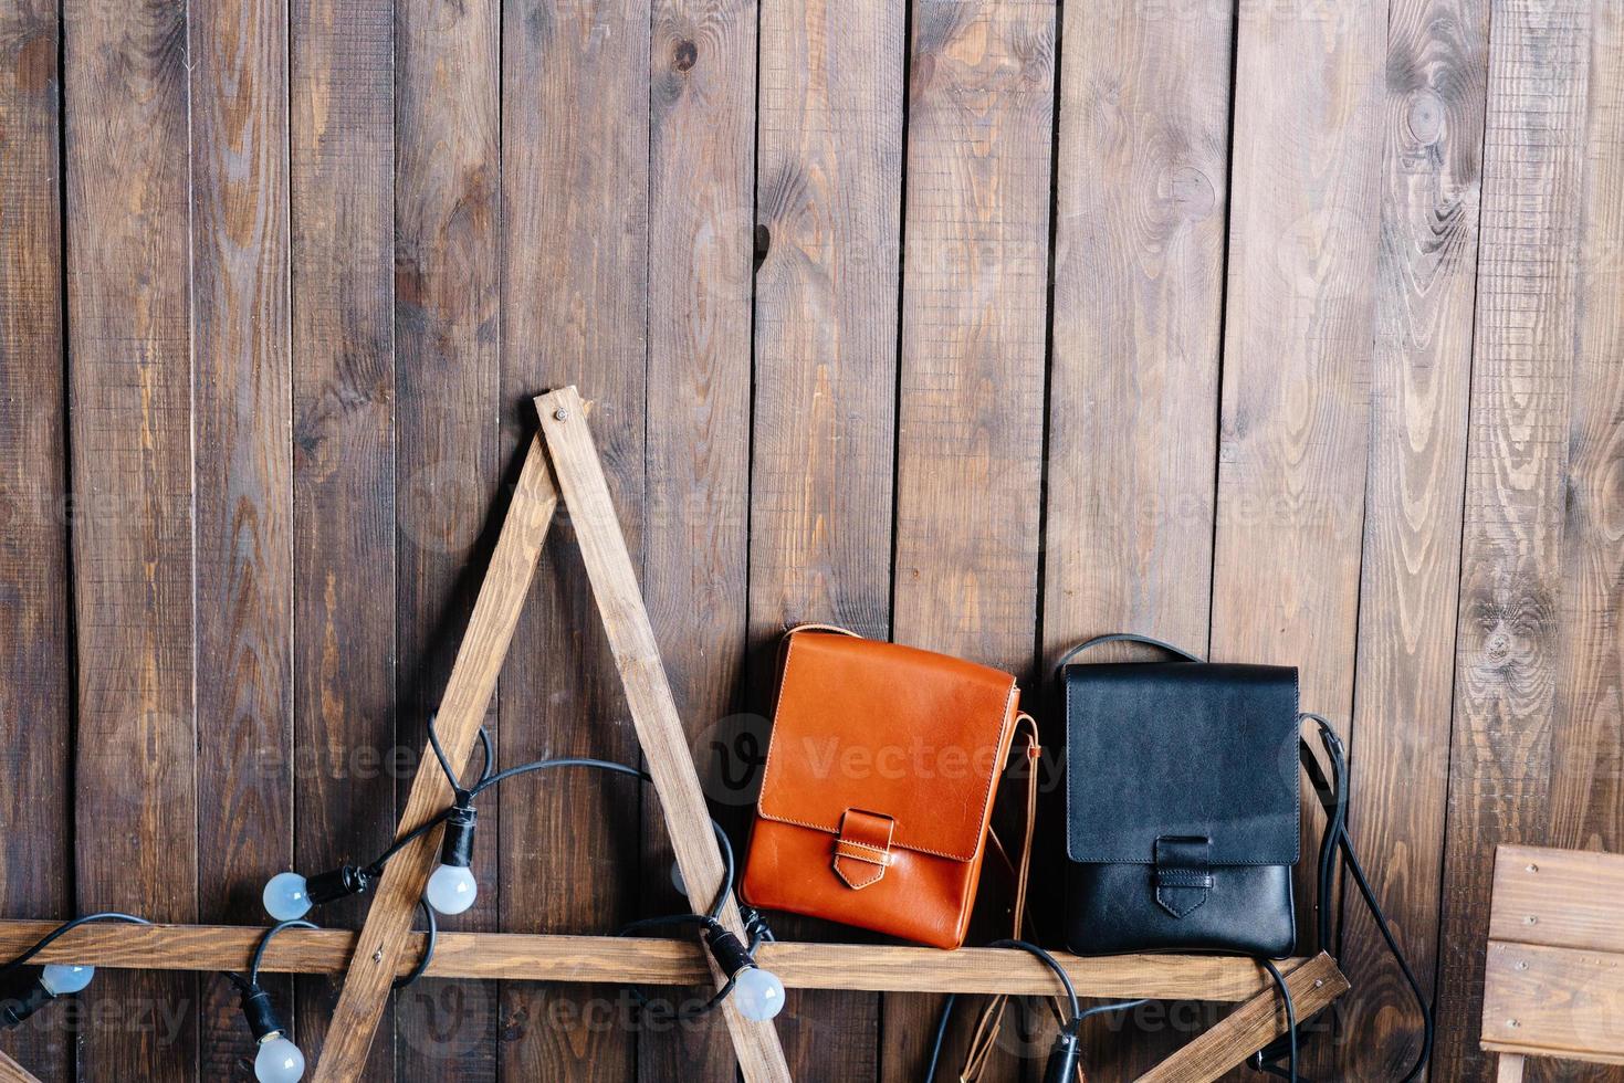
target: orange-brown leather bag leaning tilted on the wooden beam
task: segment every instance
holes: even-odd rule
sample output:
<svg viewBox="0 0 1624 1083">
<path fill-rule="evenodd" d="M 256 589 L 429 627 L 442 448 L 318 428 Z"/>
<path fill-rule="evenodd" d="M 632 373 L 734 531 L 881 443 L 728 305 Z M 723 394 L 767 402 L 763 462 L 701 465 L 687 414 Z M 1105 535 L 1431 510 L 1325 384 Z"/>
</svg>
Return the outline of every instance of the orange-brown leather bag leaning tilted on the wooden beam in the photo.
<svg viewBox="0 0 1624 1083">
<path fill-rule="evenodd" d="M 1009 674 L 793 628 L 744 898 L 960 947 L 1017 718 Z"/>
</svg>

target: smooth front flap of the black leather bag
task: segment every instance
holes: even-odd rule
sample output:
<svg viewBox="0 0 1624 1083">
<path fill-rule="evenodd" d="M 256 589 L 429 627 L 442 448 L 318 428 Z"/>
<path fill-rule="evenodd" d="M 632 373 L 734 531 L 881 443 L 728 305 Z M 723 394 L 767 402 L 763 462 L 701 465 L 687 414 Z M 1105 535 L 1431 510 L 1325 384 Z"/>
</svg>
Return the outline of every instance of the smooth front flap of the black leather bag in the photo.
<svg viewBox="0 0 1624 1083">
<path fill-rule="evenodd" d="M 1064 669 L 1067 852 L 1153 864 L 1212 839 L 1213 865 L 1298 861 L 1298 671 L 1221 662 Z"/>
</svg>

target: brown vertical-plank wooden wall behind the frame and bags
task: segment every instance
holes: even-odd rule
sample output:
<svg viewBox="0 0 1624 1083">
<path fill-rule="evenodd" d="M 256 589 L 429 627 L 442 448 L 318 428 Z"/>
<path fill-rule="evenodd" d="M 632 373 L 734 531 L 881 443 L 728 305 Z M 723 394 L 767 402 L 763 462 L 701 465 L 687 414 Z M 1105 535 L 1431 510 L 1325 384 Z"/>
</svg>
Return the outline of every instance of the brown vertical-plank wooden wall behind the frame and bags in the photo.
<svg viewBox="0 0 1624 1083">
<path fill-rule="evenodd" d="M 1624 851 L 1621 283 L 1613 0 L 0 0 L 0 911 L 245 922 L 382 849 L 529 396 L 578 383 L 741 849 L 786 625 L 1005 666 L 1051 744 L 1083 636 L 1294 662 L 1434 1078 L 1483 1078 L 1494 846 Z M 567 515 L 487 726 L 637 757 Z M 450 924 L 677 906 L 627 779 L 484 805 Z M 1405 990 L 1333 904 L 1309 1075 L 1385 1078 Z M 313 1052 L 331 982 L 273 994 Z M 0 1047 L 245 1080 L 234 1000 L 109 973 Z M 424 982 L 369 1080 L 728 1073 L 719 1025 L 627 1005 Z M 780 1031 L 797 1078 L 914 1080 L 937 1005 Z M 987 1078 L 1039 1075 L 1025 1021 Z"/>
</svg>

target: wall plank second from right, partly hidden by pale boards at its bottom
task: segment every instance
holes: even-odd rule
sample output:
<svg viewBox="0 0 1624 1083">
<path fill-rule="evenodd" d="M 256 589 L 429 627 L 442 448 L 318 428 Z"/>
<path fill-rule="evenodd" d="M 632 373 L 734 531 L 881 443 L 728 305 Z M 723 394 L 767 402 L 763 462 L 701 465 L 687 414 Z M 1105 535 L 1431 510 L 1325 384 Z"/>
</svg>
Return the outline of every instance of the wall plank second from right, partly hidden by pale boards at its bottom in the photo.
<svg viewBox="0 0 1624 1083">
<path fill-rule="evenodd" d="M 1439 1080 L 1491 1072 L 1478 1020 L 1494 846 L 1543 843 L 1549 825 L 1588 34 L 1582 0 L 1504 0 L 1491 19 Z"/>
</svg>

